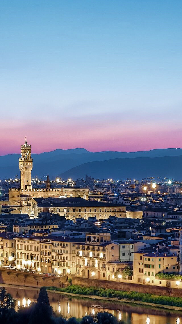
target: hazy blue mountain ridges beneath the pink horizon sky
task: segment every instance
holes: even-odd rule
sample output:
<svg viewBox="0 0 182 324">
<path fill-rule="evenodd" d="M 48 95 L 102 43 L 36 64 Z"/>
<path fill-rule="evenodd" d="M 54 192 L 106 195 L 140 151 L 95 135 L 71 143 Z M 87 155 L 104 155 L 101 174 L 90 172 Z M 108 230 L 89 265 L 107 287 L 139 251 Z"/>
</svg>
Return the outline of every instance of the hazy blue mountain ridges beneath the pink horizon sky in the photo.
<svg viewBox="0 0 182 324">
<path fill-rule="evenodd" d="M 125 173 L 124 178 L 130 177 L 130 174 L 135 174 L 134 177 L 137 177 L 136 169 L 137 168 L 143 168 L 143 174 L 142 178 L 148 176 L 146 175 L 149 173 L 149 170 L 145 170 L 143 166 L 145 158 L 151 158 L 152 163 L 157 163 L 156 168 L 158 168 L 158 173 L 162 172 L 162 166 L 166 164 L 166 157 L 169 156 L 178 156 L 178 159 L 176 160 L 176 163 L 179 163 L 180 156 L 182 156 L 182 149 L 181 148 L 167 148 L 167 149 L 155 149 L 150 151 L 138 151 L 138 152 L 119 152 L 119 151 L 102 151 L 102 152 L 89 152 L 84 148 L 75 148 L 75 149 L 68 149 L 68 150 L 62 150 L 62 149 L 56 149 L 51 152 L 44 152 L 40 154 L 32 154 L 33 157 L 33 170 L 32 170 L 32 176 L 38 176 L 38 177 L 46 177 L 49 173 L 49 176 L 51 178 L 54 178 L 58 175 L 64 176 L 67 179 L 67 174 L 71 172 L 73 175 L 69 175 L 69 177 L 72 177 L 74 179 L 80 177 L 80 171 L 79 167 L 82 166 L 82 172 L 81 176 L 85 176 L 85 173 L 90 174 L 94 177 L 93 168 L 91 167 L 91 162 L 99 162 L 100 168 L 104 168 L 106 164 L 102 164 L 102 161 L 109 161 L 112 160 L 111 168 L 114 168 L 115 170 L 118 169 L 118 165 L 120 165 L 120 168 L 123 168 L 123 172 Z M 15 178 L 16 175 L 20 175 L 20 171 L 18 168 L 18 158 L 20 157 L 20 154 L 8 154 L 5 156 L 0 156 L 0 179 L 5 178 Z M 153 158 L 159 158 L 160 160 L 153 160 Z M 136 163 L 135 158 L 140 158 L 140 166 Z M 121 163 L 121 160 L 123 159 L 123 162 Z M 130 163 L 129 161 L 133 160 L 133 163 Z M 125 161 L 125 162 L 124 162 Z M 173 159 L 174 161 L 174 159 Z M 146 160 L 145 160 L 146 162 Z M 107 162 L 108 163 L 108 162 Z M 149 161 L 147 162 L 149 163 Z M 181 163 L 181 162 L 180 162 Z M 149 163 L 150 164 L 150 163 Z M 160 164 L 160 165 L 159 165 Z M 95 164 L 95 168 L 97 164 Z M 128 170 L 128 166 L 130 165 L 130 170 Z M 151 166 L 152 167 L 152 166 Z M 155 165 L 153 165 L 153 168 Z M 173 164 L 171 165 L 171 168 L 177 169 L 178 166 Z M 181 164 L 180 164 L 181 168 Z M 71 169 L 71 171 L 70 171 Z M 73 170 L 74 169 L 74 170 Z M 69 171 L 68 171 L 69 170 Z M 68 171 L 68 173 L 67 173 Z M 102 169 L 102 172 L 104 172 L 104 169 Z M 132 173 L 133 172 L 133 173 Z M 138 171 L 137 171 L 138 172 Z M 169 171 L 167 171 L 169 172 Z M 101 173 L 101 170 L 100 170 Z M 107 174 L 107 175 L 106 175 Z M 121 174 L 121 172 L 119 173 Z M 116 178 L 119 177 L 119 174 Z M 138 173 L 139 174 L 139 173 Z M 175 170 L 174 170 L 175 174 Z M 104 173 L 103 173 L 104 175 Z M 106 178 L 109 177 L 108 170 L 106 170 Z M 122 175 L 122 174 L 121 174 Z M 151 173 L 149 176 L 155 176 Z M 161 174 L 158 174 L 157 176 L 162 176 Z M 177 176 L 179 176 L 179 173 L 177 173 Z M 101 175 L 97 173 L 97 178 L 101 178 Z M 132 177 L 132 176 L 131 176 Z M 104 177 L 105 178 L 105 177 Z M 113 178 L 113 176 L 112 176 Z"/>
</svg>

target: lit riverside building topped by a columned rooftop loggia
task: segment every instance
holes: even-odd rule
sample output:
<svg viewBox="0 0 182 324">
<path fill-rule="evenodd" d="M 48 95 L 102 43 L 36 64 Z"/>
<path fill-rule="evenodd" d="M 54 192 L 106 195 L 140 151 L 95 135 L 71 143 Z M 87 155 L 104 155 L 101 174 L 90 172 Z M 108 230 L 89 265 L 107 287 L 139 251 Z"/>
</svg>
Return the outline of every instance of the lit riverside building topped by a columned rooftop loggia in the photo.
<svg viewBox="0 0 182 324">
<path fill-rule="evenodd" d="M 118 260 L 119 245 L 111 242 L 107 231 L 86 233 L 86 240 L 76 246 L 76 276 L 94 279 L 109 279 L 107 262 Z M 109 279 L 110 280 L 110 279 Z"/>
</svg>

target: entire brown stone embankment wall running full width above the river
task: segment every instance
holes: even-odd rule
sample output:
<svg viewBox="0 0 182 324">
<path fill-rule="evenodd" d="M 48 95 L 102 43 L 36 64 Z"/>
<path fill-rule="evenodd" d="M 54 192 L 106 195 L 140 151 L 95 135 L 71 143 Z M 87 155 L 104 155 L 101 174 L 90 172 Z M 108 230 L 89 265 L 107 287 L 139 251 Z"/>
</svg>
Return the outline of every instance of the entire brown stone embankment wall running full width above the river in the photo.
<svg viewBox="0 0 182 324">
<path fill-rule="evenodd" d="M 78 278 L 75 276 L 46 276 L 35 273 L 9 270 L 0 268 L 0 285 L 14 284 L 24 287 L 57 287 L 61 288 L 68 285 L 68 278 L 71 278 L 72 284 L 78 284 L 83 287 L 108 288 L 121 291 L 136 291 L 139 293 L 149 293 L 161 296 L 178 296 L 182 297 L 182 289 L 168 288 L 147 284 L 132 284 L 126 282 L 114 282 L 108 280 L 98 280 L 91 278 Z"/>
</svg>

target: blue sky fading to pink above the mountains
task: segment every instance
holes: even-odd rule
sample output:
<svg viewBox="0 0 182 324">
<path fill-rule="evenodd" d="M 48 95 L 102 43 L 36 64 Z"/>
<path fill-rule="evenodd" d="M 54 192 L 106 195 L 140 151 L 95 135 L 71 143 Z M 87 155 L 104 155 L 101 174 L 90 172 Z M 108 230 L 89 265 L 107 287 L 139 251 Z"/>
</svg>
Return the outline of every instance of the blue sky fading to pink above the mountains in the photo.
<svg viewBox="0 0 182 324">
<path fill-rule="evenodd" d="M 0 155 L 182 147 L 182 3 L 16 0 L 0 10 Z"/>
</svg>

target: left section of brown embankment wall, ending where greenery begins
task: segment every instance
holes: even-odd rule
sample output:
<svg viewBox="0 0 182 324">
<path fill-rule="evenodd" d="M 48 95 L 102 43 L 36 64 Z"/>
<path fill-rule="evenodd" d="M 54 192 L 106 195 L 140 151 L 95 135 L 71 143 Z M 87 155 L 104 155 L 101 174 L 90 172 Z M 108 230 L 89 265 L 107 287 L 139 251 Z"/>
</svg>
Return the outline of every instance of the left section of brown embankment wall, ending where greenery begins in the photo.
<svg viewBox="0 0 182 324">
<path fill-rule="evenodd" d="M 27 287 L 63 287 L 68 283 L 67 276 L 55 277 L 9 269 L 0 270 L 0 284 L 14 284 Z"/>
</svg>

